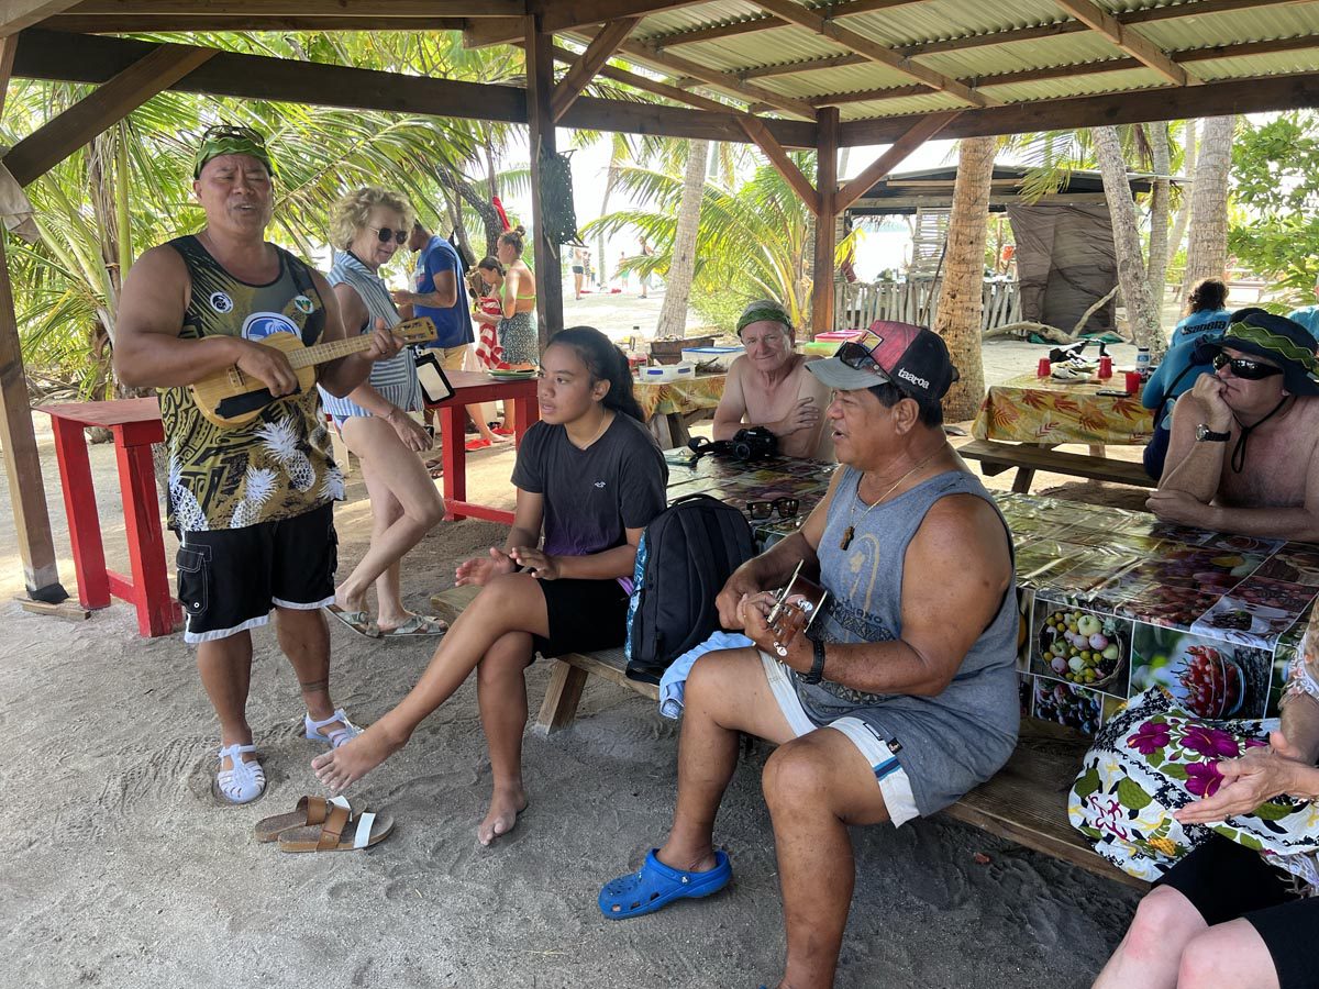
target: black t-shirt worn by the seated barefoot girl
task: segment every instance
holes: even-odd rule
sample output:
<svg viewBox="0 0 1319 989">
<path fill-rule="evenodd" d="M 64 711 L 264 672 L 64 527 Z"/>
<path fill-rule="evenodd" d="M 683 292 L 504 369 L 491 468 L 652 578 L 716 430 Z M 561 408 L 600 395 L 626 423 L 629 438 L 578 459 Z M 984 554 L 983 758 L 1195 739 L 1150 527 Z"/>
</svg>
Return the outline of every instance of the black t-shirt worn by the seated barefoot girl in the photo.
<svg viewBox="0 0 1319 989">
<path fill-rule="evenodd" d="M 522 436 L 513 484 L 545 496 L 545 551 L 588 556 L 627 542 L 663 512 L 669 467 L 640 422 L 615 413 L 595 443 L 578 450 L 563 426 L 537 422 Z"/>
</svg>

